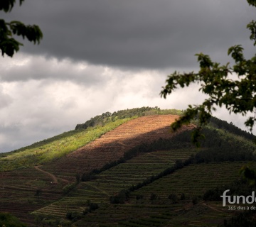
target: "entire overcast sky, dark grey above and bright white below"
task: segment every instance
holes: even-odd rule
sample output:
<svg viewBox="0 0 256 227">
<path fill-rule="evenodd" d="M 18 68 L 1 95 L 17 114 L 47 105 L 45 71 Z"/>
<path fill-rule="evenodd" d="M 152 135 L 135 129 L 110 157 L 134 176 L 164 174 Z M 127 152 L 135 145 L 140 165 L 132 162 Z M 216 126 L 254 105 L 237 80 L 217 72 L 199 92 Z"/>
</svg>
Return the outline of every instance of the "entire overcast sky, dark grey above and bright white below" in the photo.
<svg viewBox="0 0 256 227">
<path fill-rule="evenodd" d="M 106 111 L 200 104 L 196 85 L 161 99 L 166 76 L 198 70 L 199 52 L 223 64 L 232 45 L 254 55 L 246 30 L 254 15 L 245 0 L 26 0 L 0 12 L 43 31 L 40 45 L 21 40 L 14 57 L 1 57 L 0 152 Z M 214 115 L 245 129 L 241 116 Z"/>
</svg>

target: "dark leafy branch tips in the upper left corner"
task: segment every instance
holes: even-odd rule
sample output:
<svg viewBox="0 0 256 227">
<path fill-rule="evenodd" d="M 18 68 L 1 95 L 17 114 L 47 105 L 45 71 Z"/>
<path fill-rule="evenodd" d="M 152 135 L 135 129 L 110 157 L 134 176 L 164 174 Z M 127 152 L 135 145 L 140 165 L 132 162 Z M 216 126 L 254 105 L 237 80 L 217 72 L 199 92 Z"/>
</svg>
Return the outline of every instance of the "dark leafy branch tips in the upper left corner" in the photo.
<svg viewBox="0 0 256 227">
<path fill-rule="evenodd" d="M 24 0 L 19 0 L 20 5 Z M 4 0 L 0 1 L 0 11 L 9 13 L 13 9 L 16 0 Z M 0 49 L 1 54 L 12 57 L 14 52 L 18 52 L 19 47 L 23 45 L 18 42 L 13 36 L 18 35 L 22 38 L 26 38 L 28 41 L 34 44 L 40 43 L 43 38 L 43 33 L 37 25 L 24 25 L 20 21 L 6 22 L 0 18 Z"/>
</svg>

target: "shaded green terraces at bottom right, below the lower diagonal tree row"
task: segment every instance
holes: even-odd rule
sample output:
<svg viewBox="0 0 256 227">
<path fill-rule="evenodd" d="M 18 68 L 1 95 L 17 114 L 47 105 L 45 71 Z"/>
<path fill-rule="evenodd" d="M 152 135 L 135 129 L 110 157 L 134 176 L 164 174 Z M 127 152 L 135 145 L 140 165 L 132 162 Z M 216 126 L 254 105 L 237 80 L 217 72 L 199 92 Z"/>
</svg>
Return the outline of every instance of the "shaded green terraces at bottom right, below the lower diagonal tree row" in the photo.
<svg viewBox="0 0 256 227">
<path fill-rule="evenodd" d="M 74 226 L 218 226 L 224 218 L 232 217 L 228 206 L 223 208 L 221 201 L 193 204 L 193 198 L 240 178 L 238 170 L 244 164 L 189 165 L 132 192 L 126 204 L 101 206 Z M 256 162 L 252 165 L 256 167 Z M 112 171 L 116 171 L 114 169 Z M 102 188 L 102 184 L 98 185 Z"/>
</svg>

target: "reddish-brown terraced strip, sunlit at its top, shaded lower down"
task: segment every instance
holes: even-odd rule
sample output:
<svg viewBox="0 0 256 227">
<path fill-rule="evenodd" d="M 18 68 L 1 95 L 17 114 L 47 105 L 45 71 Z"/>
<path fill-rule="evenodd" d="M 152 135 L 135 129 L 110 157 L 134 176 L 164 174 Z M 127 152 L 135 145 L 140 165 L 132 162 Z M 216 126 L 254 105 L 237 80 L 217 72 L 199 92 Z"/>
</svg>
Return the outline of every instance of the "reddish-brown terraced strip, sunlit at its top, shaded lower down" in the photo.
<svg viewBox="0 0 256 227">
<path fill-rule="evenodd" d="M 169 126 L 176 118 L 178 116 L 175 115 L 154 115 L 133 119 L 42 168 L 65 178 L 102 167 L 106 162 L 117 160 L 125 151 L 141 143 L 151 143 L 159 138 L 171 138 L 174 133 L 170 133 Z M 185 128 L 189 130 L 193 125 L 186 126 L 183 130 Z"/>
</svg>

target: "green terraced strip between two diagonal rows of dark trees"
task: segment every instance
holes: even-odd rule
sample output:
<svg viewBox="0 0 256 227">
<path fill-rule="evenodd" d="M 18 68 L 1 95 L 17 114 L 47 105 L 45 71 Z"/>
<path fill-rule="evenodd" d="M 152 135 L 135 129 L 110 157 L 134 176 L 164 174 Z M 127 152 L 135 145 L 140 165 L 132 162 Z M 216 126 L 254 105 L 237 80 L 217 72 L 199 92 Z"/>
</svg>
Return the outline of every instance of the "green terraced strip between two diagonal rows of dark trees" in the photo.
<svg viewBox="0 0 256 227">
<path fill-rule="evenodd" d="M 143 153 L 137 157 L 121 163 L 110 170 L 97 175 L 97 179 L 90 182 L 80 182 L 77 189 L 59 201 L 39 209 L 33 214 L 45 214 L 65 218 L 67 211 L 81 212 L 90 200 L 93 203 L 107 205 L 110 196 L 118 194 L 122 189 L 129 189 L 132 185 L 144 182 L 152 175 L 166 170 L 175 164 L 176 160 L 186 160 L 197 149 L 161 150 Z"/>
</svg>

